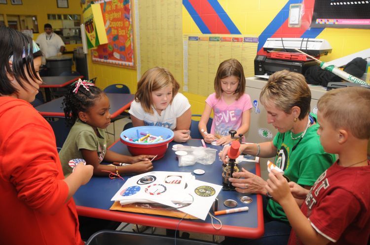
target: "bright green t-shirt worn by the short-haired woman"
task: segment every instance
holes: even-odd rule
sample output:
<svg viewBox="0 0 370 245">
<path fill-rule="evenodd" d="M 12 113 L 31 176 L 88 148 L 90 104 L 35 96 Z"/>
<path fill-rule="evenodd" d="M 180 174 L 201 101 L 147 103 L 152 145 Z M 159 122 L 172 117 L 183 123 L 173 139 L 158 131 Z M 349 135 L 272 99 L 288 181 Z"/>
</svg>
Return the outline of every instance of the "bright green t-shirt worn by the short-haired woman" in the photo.
<svg viewBox="0 0 370 245">
<path fill-rule="evenodd" d="M 273 144 L 278 149 L 274 163 L 284 171 L 284 175 L 297 184 L 312 186 L 317 178 L 335 162 L 335 155 L 324 152 L 317 134 L 320 126 L 317 123 L 317 116 L 310 115 L 316 124 L 307 128 L 299 143 L 300 137 L 293 140 L 291 131 L 288 131 L 277 133 Z M 296 138 L 299 134 L 292 136 Z M 267 212 L 275 219 L 288 222 L 283 208 L 271 199 L 267 204 Z"/>
</svg>

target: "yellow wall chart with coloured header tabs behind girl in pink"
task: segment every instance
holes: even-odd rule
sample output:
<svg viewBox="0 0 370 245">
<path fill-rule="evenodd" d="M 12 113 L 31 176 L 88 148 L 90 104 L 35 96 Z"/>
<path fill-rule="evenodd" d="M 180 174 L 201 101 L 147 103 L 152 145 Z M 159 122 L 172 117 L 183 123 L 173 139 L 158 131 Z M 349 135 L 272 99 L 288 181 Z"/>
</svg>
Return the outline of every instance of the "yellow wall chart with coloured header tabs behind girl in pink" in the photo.
<svg viewBox="0 0 370 245">
<path fill-rule="evenodd" d="M 245 77 L 255 74 L 258 37 L 245 35 L 191 35 L 184 39 L 184 91 L 207 97 L 215 92 L 214 81 L 222 61 L 236 59 Z"/>
</svg>

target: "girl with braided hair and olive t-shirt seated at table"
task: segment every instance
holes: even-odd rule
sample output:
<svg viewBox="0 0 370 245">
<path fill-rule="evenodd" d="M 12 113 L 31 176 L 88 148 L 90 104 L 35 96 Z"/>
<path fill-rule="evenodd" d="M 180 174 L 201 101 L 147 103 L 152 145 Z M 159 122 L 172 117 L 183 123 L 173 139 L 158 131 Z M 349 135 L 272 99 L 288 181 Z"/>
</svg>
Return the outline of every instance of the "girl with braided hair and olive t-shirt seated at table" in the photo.
<svg viewBox="0 0 370 245">
<path fill-rule="evenodd" d="M 72 173 L 68 162 L 82 158 L 94 167 L 94 175 L 145 173 L 153 168 L 149 158 L 153 155 L 127 156 L 107 149 L 104 129 L 111 123 L 110 102 L 107 95 L 93 83 L 78 80 L 64 98 L 64 113 L 68 126 L 72 126 L 59 156 L 63 173 Z M 100 164 L 102 161 L 114 165 Z M 120 163 L 128 163 L 121 166 Z"/>
</svg>

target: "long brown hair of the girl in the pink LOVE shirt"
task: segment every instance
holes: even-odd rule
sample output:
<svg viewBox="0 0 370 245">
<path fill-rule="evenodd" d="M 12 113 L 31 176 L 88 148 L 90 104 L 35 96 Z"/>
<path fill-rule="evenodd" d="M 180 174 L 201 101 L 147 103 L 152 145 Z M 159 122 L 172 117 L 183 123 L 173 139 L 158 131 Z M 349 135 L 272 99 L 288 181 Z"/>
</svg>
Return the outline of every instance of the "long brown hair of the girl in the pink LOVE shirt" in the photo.
<svg viewBox="0 0 370 245">
<path fill-rule="evenodd" d="M 222 61 L 217 69 L 216 77 L 215 77 L 215 92 L 216 98 L 221 98 L 222 89 L 221 89 L 221 79 L 229 76 L 235 76 L 239 79 L 238 88 L 234 93 L 237 94 L 236 99 L 239 99 L 245 90 L 245 76 L 242 64 L 235 60 L 230 59 L 226 61 Z"/>
</svg>

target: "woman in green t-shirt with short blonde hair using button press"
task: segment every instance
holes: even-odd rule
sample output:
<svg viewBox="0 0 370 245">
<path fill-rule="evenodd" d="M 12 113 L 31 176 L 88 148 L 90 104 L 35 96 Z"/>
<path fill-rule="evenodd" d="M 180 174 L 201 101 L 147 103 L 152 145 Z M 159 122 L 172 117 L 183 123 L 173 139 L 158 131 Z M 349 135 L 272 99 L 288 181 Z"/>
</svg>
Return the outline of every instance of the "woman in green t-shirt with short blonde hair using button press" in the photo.
<svg viewBox="0 0 370 245">
<path fill-rule="evenodd" d="M 275 72 L 262 89 L 259 100 L 267 112 L 267 122 L 272 123 L 278 133 L 270 142 L 244 144 L 240 152 L 265 158 L 275 156 L 275 165 L 286 177 L 310 188 L 333 164 L 335 156 L 325 153 L 320 144 L 317 117 L 309 113 L 311 91 L 303 75 L 287 70 Z M 223 162 L 227 161 L 228 148 L 220 153 Z M 269 196 L 266 182 L 247 170 L 242 169 L 233 177 L 229 181 L 236 191 Z M 236 242 L 227 238 L 225 244 L 287 244 L 291 227 L 282 207 L 273 199 L 264 198 L 264 222 L 265 233 L 260 239 Z"/>
</svg>

